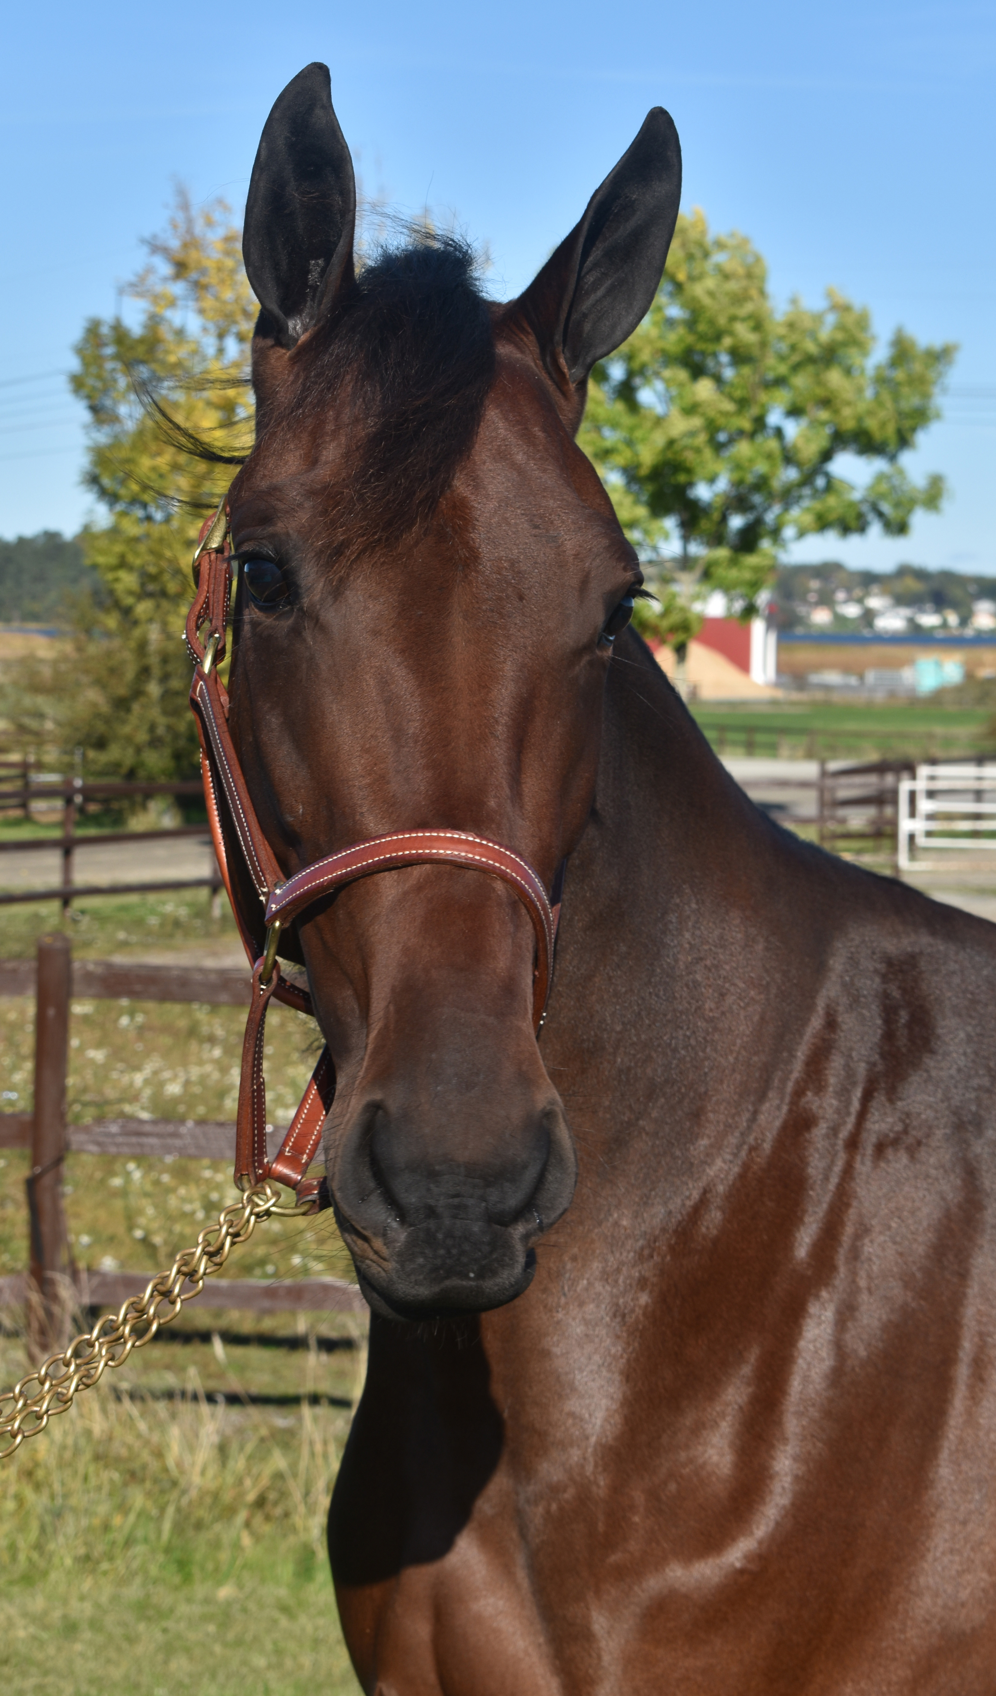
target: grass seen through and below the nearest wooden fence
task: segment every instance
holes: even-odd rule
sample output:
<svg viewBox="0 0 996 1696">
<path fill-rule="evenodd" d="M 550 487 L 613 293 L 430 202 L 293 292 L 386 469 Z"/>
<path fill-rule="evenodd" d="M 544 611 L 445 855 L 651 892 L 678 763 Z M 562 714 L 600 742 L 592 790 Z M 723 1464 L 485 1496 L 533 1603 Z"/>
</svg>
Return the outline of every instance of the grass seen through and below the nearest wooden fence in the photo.
<svg viewBox="0 0 996 1696">
<path fill-rule="evenodd" d="M 27 957 L 56 911 L 5 914 Z M 80 957 L 175 955 L 234 941 L 207 894 L 109 897 L 66 921 Z M 231 1118 L 238 1007 L 75 1001 L 68 1111 Z M 275 1007 L 270 1118 L 297 1102 L 314 1026 Z M 32 1102 L 34 1004 L 0 999 L 0 1102 Z M 0 1152 L 0 1270 L 27 1258 L 27 1153 Z M 153 1270 L 234 1199 L 209 1160 L 70 1155 L 73 1255 Z M 232 1277 L 351 1275 L 331 1214 L 271 1219 Z M 0 1331 L 0 1386 L 27 1367 L 19 1314 Z M 185 1309 L 175 1326 L 0 1469 L 0 1640 L 12 1696 L 355 1696 L 324 1552 L 324 1520 L 361 1386 L 365 1325 L 343 1314 Z"/>
</svg>

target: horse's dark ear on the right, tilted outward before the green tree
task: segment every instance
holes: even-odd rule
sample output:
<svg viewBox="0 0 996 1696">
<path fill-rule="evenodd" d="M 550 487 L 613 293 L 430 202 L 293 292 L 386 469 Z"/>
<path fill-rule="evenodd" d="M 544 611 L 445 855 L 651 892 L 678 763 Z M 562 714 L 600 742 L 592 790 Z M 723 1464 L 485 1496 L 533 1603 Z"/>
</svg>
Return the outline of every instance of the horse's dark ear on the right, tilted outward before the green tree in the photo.
<svg viewBox="0 0 996 1696">
<path fill-rule="evenodd" d="M 551 375 L 584 383 L 636 329 L 663 275 L 680 192 L 677 129 L 653 107 L 580 224 L 516 302 Z"/>
</svg>

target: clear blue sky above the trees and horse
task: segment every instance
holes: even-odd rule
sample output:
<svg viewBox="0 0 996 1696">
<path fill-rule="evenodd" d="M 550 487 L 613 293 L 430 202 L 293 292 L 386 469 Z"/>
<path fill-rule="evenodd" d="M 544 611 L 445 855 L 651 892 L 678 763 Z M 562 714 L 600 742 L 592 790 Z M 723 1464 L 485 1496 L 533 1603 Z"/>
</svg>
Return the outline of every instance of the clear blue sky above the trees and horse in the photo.
<svg viewBox="0 0 996 1696">
<path fill-rule="evenodd" d="M 241 215 L 266 112 L 309 59 L 368 192 L 455 214 L 512 295 L 582 212 L 650 105 L 672 112 L 684 205 L 741 229 L 779 300 L 830 283 L 887 336 L 957 341 L 945 419 L 909 460 L 943 512 L 899 541 L 820 538 L 796 558 L 996 575 L 993 3 L 755 0 L 56 0 L 5 17 L 0 536 L 71 531 L 83 319 L 115 310 L 176 178 Z"/>
</svg>

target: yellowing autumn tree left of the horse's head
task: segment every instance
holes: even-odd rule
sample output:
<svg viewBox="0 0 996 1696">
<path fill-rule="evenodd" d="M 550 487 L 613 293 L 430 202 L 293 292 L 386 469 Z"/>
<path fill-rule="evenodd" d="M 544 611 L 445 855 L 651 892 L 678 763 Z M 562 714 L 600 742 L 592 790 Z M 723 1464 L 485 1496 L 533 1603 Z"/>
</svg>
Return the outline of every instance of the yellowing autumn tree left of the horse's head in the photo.
<svg viewBox="0 0 996 1696">
<path fill-rule="evenodd" d="M 76 602 L 68 660 L 27 667 L 5 709 L 25 741 L 63 756 L 81 746 L 90 777 L 170 780 L 197 773 L 182 639 L 190 560 L 251 444 L 258 309 L 224 202 L 195 210 L 178 192 L 148 251 L 124 290 L 137 321 L 90 319 L 71 377 L 90 412 L 85 483 L 107 514 L 80 536 L 98 587 Z"/>
</svg>

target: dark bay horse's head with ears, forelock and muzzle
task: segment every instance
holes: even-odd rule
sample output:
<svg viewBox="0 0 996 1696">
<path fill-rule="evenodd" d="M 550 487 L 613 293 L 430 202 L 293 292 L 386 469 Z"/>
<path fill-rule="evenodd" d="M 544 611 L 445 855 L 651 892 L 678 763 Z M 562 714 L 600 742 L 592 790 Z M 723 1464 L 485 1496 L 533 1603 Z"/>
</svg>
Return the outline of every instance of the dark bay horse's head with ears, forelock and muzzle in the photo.
<svg viewBox="0 0 996 1696">
<path fill-rule="evenodd" d="M 594 797 L 636 555 L 574 434 L 592 365 L 655 295 L 680 188 L 657 109 L 511 304 L 456 239 L 355 263 L 327 70 L 260 142 L 244 259 L 256 443 L 231 490 L 231 729 L 285 875 L 390 831 L 470 831 L 550 890 Z M 295 943 L 336 1065 L 329 1191 L 375 1309 L 526 1289 L 575 1152 L 533 1024 L 507 882 L 367 875 Z M 555 1004 L 551 1009 L 555 1016 Z"/>
</svg>

